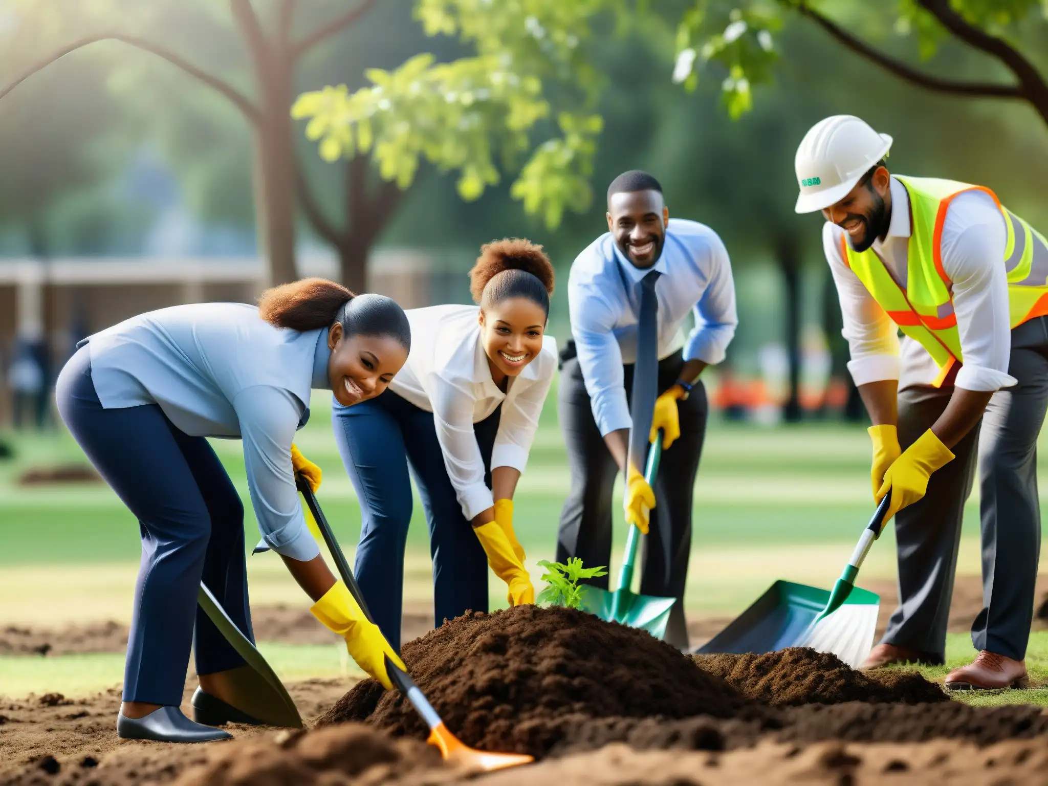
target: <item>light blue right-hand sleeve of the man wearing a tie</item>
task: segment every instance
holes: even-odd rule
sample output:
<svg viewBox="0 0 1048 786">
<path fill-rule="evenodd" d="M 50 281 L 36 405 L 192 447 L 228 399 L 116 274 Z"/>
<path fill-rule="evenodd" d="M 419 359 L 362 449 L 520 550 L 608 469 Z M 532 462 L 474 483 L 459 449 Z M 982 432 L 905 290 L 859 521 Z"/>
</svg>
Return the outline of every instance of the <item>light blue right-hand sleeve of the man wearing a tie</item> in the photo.
<svg viewBox="0 0 1048 786">
<path fill-rule="evenodd" d="M 735 280 L 727 248 L 719 237 L 707 238 L 708 283 L 695 304 L 695 328 L 684 346 L 685 361 L 702 361 L 711 366 L 724 359 L 735 337 L 739 316 L 735 306 Z"/>
</svg>

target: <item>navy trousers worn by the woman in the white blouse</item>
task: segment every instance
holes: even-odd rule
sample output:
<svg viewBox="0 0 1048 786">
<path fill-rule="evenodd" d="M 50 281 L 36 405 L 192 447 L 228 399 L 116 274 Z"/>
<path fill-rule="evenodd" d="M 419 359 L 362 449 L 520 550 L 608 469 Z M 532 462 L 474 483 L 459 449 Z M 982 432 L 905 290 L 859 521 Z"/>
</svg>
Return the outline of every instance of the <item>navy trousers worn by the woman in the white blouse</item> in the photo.
<svg viewBox="0 0 1048 786">
<path fill-rule="evenodd" d="M 474 424 L 488 487 L 500 413 L 497 409 Z M 434 625 L 471 609 L 487 611 L 487 558 L 447 477 L 433 413 L 387 391 L 352 407 L 334 405 L 331 421 L 361 500 L 356 582 L 390 645 L 400 649 L 403 551 L 412 510 L 409 471 L 430 527 Z"/>
</svg>

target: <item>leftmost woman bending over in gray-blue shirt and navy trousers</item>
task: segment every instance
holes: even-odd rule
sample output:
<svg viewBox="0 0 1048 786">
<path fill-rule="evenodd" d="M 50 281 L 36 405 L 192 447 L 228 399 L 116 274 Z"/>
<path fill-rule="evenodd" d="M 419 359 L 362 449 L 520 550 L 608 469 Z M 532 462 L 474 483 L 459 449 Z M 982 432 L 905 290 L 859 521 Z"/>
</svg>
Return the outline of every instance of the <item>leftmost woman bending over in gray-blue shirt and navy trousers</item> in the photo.
<svg viewBox="0 0 1048 786">
<path fill-rule="evenodd" d="M 182 715 L 190 648 L 200 685 L 194 716 L 254 721 L 237 707 L 243 658 L 197 607 L 201 582 L 250 640 L 244 509 L 205 437 L 243 440 L 259 529 L 313 614 L 390 687 L 400 664 L 349 589 L 335 581 L 306 526 L 294 475 L 320 470 L 292 444 L 309 419 L 311 389 L 350 407 L 381 393 L 408 357 L 403 310 L 322 279 L 269 289 L 258 308 L 175 306 L 89 336 L 59 375 L 59 412 L 106 482 L 138 519 L 141 569 L 117 716 L 123 738 L 226 739 Z"/>
</svg>

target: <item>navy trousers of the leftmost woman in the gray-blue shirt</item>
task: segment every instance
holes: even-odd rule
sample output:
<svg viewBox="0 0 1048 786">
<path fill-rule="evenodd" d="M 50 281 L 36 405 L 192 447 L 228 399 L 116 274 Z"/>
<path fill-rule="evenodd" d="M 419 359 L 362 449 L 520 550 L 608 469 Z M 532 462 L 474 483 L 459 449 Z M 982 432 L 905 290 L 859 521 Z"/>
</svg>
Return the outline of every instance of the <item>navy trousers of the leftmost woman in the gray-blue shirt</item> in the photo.
<svg viewBox="0 0 1048 786">
<path fill-rule="evenodd" d="M 191 645 L 197 674 L 244 663 L 197 607 L 201 581 L 255 640 L 240 497 L 208 440 L 179 431 L 158 406 L 103 409 L 88 347 L 66 364 L 54 395 L 77 442 L 138 519 L 141 567 L 124 700 L 177 706 Z"/>
</svg>

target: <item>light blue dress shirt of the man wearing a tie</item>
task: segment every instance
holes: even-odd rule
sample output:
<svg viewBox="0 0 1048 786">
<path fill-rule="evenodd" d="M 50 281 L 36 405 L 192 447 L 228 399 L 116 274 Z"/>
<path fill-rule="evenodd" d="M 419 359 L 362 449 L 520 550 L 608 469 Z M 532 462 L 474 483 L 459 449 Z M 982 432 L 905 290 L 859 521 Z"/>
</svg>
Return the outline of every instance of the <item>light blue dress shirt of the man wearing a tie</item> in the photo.
<svg viewBox="0 0 1048 786">
<path fill-rule="evenodd" d="M 659 359 L 683 347 L 685 361 L 720 363 L 739 323 L 727 249 L 705 224 L 671 218 L 662 254 L 648 268 L 627 260 L 611 233 L 594 240 L 571 265 L 568 307 L 602 436 L 632 422 L 623 364 L 636 359 L 639 284 L 651 270 L 662 274 L 655 284 Z M 689 311 L 695 313 L 695 328 L 685 341 L 682 326 Z"/>
</svg>

